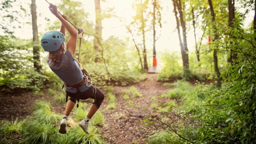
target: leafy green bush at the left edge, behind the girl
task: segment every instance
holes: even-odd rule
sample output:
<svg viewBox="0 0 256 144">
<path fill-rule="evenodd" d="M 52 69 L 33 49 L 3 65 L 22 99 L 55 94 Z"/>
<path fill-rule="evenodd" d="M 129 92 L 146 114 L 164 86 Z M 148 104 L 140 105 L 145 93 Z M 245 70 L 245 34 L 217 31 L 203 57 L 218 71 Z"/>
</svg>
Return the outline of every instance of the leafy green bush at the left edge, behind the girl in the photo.
<svg viewBox="0 0 256 144">
<path fill-rule="evenodd" d="M 33 67 L 32 44 L 10 36 L 0 36 L 0 91 L 39 91 L 47 76 Z"/>
</svg>

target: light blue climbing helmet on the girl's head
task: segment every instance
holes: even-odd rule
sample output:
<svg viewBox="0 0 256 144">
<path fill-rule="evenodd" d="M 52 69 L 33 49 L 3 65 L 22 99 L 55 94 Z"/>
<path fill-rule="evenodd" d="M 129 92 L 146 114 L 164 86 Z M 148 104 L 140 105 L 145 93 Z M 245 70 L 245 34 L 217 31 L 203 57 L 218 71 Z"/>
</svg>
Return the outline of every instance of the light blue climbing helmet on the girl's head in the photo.
<svg viewBox="0 0 256 144">
<path fill-rule="evenodd" d="M 59 31 L 48 31 L 41 38 L 41 46 L 44 51 L 56 51 L 65 39 L 64 34 Z"/>
</svg>

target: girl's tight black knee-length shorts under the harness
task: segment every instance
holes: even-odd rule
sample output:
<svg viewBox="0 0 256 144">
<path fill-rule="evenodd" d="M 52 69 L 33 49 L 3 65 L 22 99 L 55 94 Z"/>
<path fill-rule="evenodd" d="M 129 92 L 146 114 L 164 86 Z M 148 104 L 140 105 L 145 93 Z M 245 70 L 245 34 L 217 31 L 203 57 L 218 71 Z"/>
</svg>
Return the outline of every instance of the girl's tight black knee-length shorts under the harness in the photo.
<svg viewBox="0 0 256 144">
<path fill-rule="evenodd" d="M 94 95 L 95 90 L 96 90 L 96 94 Z M 95 86 L 91 86 L 88 90 L 84 92 L 70 93 L 66 91 L 66 93 L 68 96 L 70 96 L 70 100 L 74 103 L 76 103 L 76 100 L 79 100 L 79 99 L 81 100 L 86 100 L 89 98 L 94 99 L 93 104 L 95 104 L 97 108 L 100 107 L 105 97 L 103 92 Z"/>
</svg>

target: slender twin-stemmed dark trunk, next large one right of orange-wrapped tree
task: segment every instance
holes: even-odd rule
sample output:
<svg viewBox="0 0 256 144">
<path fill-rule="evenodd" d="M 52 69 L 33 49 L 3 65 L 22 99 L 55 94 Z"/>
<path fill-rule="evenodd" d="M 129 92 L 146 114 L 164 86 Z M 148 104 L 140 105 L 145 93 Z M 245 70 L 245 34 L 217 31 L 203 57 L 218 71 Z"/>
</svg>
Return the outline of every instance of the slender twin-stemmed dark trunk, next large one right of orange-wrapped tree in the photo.
<svg viewBox="0 0 256 144">
<path fill-rule="evenodd" d="M 188 46 L 187 46 L 187 36 L 186 36 L 186 23 L 183 19 L 183 13 L 182 13 L 182 5 L 181 1 L 177 0 L 176 5 L 180 14 L 180 23 L 182 27 L 182 35 L 183 35 L 183 49 L 184 49 L 184 59 L 183 59 L 183 69 L 184 69 L 184 75 L 189 76 L 189 59 L 188 59 Z"/>
</svg>

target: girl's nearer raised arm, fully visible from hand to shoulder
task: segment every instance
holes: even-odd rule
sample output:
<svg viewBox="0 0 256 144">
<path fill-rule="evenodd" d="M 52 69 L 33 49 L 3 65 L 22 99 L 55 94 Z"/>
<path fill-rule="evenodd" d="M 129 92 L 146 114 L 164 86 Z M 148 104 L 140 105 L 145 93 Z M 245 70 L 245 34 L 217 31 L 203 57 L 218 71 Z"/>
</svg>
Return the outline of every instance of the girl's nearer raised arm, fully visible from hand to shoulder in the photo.
<svg viewBox="0 0 256 144">
<path fill-rule="evenodd" d="M 54 14 L 68 30 L 70 34 L 70 38 L 68 40 L 67 50 L 69 50 L 72 56 L 74 56 L 76 51 L 76 43 L 77 43 L 76 30 L 58 13 L 56 5 L 50 4 L 49 9 L 52 12 L 52 14 Z"/>
</svg>

